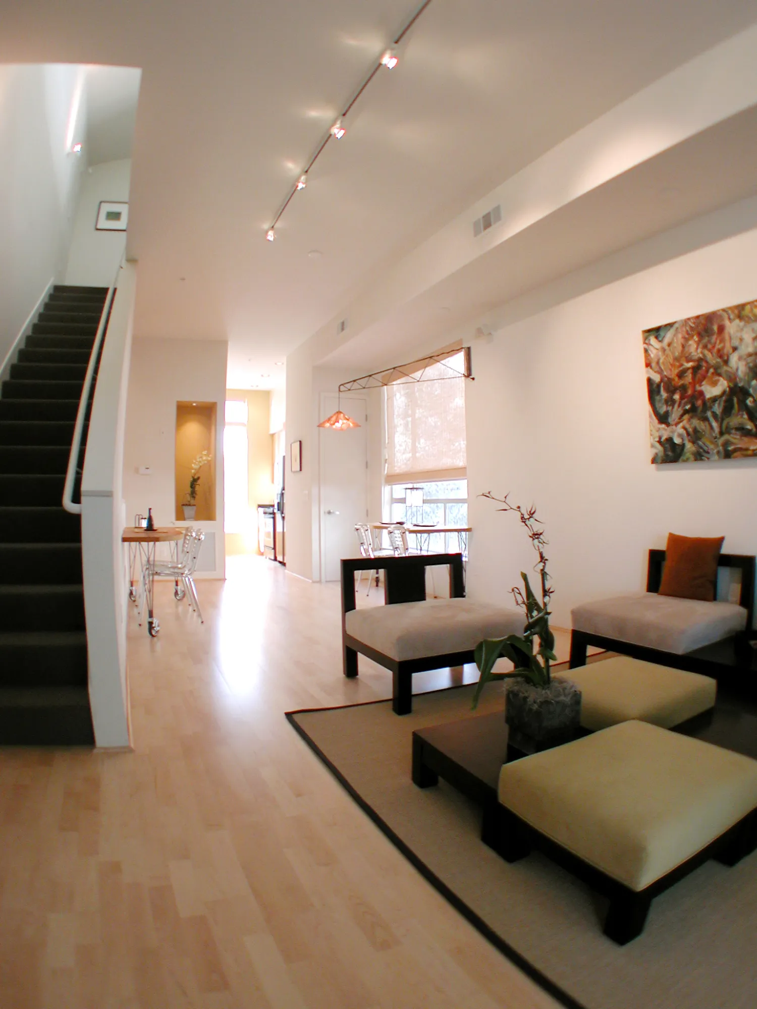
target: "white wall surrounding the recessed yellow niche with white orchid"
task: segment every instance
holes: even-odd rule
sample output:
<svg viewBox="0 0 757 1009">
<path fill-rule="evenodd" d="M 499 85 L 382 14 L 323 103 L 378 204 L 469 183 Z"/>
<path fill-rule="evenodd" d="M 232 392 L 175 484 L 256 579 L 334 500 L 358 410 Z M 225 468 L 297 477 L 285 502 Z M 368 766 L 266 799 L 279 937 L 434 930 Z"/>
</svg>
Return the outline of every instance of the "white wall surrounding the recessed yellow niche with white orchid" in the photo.
<svg viewBox="0 0 757 1009">
<path fill-rule="evenodd" d="M 203 522 L 206 533 L 198 577 L 223 578 L 223 416 L 226 402 L 225 340 L 134 340 L 131 352 L 123 495 L 126 517 L 152 516 L 158 526 L 175 523 L 176 405 L 213 403 L 216 407 L 216 519 Z M 140 466 L 149 466 L 141 476 Z M 181 523 L 178 523 L 181 525 Z M 212 537 L 208 536 L 212 534 Z M 215 550 L 209 550 L 214 541 Z"/>
</svg>

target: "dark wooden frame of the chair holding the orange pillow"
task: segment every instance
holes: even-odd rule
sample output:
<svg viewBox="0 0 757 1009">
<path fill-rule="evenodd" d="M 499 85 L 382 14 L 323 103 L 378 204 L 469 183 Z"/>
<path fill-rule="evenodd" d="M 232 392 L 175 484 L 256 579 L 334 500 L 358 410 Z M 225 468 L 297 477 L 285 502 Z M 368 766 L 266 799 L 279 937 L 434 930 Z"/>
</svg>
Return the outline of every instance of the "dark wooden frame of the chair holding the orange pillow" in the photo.
<svg viewBox="0 0 757 1009">
<path fill-rule="evenodd" d="M 662 580 L 662 568 L 665 563 L 664 550 L 650 550 L 647 566 L 647 592 L 657 592 Z M 741 588 L 739 605 L 747 611 L 746 631 L 731 638 L 714 642 L 704 648 L 691 652 L 677 654 L 664 652 L 633 642 L 607 638 L 602 635 L 584 631 L 572 630 L 570 634 L 570 668 L 583 666 L 586 663 L 586 649 L 589 645 L 604 648 L 611 652 L 653 662 L 661 666 L 672 666 L 691 673 L 702 673 L 718 679 L 730 678 L 735 670 L 749 668 L 752 664 L 752 648 L 750 640 L 753 637 L 752 622 L 754 616 L 754 584 L 755 558 L 743 554 L 721 554 L 718 560 L 719 568 L 732 568 L 741 571 Z"/>
</svg>

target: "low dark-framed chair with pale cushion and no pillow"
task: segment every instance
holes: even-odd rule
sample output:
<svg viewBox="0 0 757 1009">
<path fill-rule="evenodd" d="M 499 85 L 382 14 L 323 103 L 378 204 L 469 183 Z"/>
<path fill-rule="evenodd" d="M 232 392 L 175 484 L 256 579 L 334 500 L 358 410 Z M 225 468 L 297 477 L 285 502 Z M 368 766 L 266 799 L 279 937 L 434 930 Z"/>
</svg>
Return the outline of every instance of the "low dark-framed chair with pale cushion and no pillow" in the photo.
<svg viewBox="0 0 757 1009">
<path fill-rule="evenodd" d="M 448 599 L 426 599 L 426 570 L 449 567 Z M 384 570 L 384 606 L 356 609 L 355 571 Z M 425 669 L 473 661 L 483 638 L 522 634 L 516 609 L 465 598 L 460 554 L 422 554 L 341 562 L 344 675 L 357 676 L 357 654 L 392 670 L 392 708 L 413 709 L 412 677 Z"/>
</svg>

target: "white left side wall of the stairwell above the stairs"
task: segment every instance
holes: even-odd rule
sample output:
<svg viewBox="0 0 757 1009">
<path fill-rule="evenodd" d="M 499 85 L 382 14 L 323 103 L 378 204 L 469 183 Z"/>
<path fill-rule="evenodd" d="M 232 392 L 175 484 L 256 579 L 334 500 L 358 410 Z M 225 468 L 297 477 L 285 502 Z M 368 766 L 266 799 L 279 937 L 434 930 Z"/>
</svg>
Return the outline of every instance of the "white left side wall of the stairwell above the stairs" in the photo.
<svg viewBox="0 0 757 1009">
<path fill-rule="evenodd" d="M 64 276 L 85 167 L 69 152 L 86 132 L 83 86 L 75 66 L 0 66 L 0 360 Z"/>
</svg>

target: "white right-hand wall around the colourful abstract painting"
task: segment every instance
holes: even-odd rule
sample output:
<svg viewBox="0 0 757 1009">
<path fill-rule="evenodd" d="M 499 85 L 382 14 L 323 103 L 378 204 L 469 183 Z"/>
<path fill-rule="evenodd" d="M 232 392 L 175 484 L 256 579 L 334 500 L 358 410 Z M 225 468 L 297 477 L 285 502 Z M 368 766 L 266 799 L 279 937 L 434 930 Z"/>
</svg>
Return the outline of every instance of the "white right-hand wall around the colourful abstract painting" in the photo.
<svg viewBox="0 0 757 1009">
<path fill-rule="evenodd" d="M 561 282 L 558 304 L 474 343 L 471 595 L 505 600 L 535 560 L 517 517 L 476 496 L 490 489 L 537 506 L 550 543 L 556 626 L 570 626 L 576 603 L 643 589 L 647 550 L 664 547 L 669 531 L 725 535 L 725 552 L 757 553 L 757 459 L 650 463 L 641 338 L 643 329 L 757 298 L 757 229 L 716 240 L 730 217 L 754 213 L 751 204 L 628 250 L 623 256 L 637 269 L 645 257 L 658 264 L 607 284 L 620 263 L 609 257 Z M 666 244 L 679 247 L 686 234 L 705 247 L 659 262 Z M 570 299 L 571 283 L 585 293 Z M 543 294 L 548 303 L 554 292 Z"/>
</svg>

